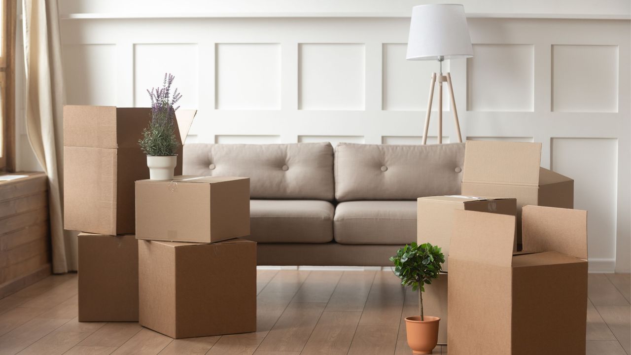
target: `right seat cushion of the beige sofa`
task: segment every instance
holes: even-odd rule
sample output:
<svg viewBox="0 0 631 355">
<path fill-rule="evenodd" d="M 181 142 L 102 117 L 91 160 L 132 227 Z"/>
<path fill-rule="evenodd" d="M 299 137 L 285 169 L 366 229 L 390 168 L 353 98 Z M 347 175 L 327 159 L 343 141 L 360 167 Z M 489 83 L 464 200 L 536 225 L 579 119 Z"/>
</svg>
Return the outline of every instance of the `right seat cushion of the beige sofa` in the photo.
<svg viewBox="0 0 631 355">
<path fill-rule="evenodd" d="M 333 231 L 341 244 L 410 244 L 416 241 L 416 201 L 339 203 Z"/>
</svg>

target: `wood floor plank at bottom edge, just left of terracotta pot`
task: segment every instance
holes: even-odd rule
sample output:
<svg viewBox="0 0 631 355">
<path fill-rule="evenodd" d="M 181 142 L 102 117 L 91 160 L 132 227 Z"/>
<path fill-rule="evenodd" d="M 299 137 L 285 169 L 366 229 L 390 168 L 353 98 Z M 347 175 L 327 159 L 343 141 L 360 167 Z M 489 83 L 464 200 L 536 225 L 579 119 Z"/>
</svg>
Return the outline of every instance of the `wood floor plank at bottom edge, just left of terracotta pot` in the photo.
<svg viewBox="0 0 631 355">
<path fill-rule="evenodd" d="M 392 354 L 399 325 L 358 325 L 348 355 Z"/>
</svg>

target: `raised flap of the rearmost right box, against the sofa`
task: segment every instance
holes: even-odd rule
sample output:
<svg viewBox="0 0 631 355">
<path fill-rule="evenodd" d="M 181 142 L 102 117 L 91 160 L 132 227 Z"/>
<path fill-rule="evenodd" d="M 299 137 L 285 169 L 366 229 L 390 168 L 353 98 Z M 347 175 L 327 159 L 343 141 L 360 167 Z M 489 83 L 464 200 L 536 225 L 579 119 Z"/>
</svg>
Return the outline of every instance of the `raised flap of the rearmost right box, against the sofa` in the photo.
<svg viewBox="0 0 631 355">
<path fill-rule="evenodd" d="M 467 141 L 463 183 L 538 186 L 541 143 Z"/>
</svg>

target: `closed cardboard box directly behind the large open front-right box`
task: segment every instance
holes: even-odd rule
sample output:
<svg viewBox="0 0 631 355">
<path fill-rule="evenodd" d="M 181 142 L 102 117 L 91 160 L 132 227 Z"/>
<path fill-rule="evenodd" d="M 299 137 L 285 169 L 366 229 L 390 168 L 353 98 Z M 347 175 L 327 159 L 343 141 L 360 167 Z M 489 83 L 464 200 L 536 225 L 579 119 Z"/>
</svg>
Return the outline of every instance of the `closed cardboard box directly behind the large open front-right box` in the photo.
<svg viewBox="0 0 631 355">
<path fill-rule="evenodd" d="M 478 196 L 429 196 L 418 198 L 416 213 L 416 243 L 432 243 L 440 246 L 445 255 L 442 270 L 448 272 L 449 242 L 454 226 L 454 211 L 468 210 L 491 212 L 494 214 L 515 215 L 514 198 Z M 517 250 L 517 243 L 514 245 Z"/>
</svg>

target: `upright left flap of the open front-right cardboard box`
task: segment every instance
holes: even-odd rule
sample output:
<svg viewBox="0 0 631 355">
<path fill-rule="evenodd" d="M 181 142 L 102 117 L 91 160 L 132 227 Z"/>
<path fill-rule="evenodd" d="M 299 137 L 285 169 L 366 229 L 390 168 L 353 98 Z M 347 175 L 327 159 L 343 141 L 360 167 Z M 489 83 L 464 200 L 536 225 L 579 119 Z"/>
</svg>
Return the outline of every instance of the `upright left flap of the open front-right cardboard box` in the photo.
<svg viewBox="0 0 631 355">
<path fill-rule="evenodd" d="M 455 210 L 449 258 L 509 267 L 514 235 L 513 215 Z"/>
</svg>

